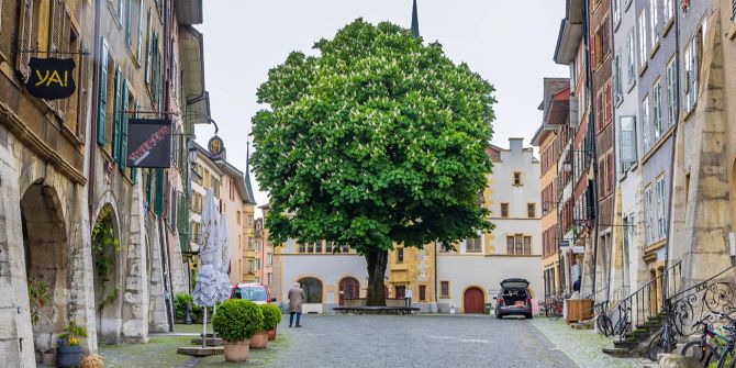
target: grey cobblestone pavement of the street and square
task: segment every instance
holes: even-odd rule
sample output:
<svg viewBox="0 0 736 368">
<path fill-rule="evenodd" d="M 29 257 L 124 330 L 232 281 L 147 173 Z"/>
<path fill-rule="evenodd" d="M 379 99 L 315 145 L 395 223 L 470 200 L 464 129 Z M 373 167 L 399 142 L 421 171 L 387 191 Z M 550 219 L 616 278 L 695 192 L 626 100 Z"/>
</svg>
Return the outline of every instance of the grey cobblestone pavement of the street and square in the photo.
<svg viewBox="0 0 736 368">
<path fill-rule="evenodd" d="M 640 367 L 600 348 L 604 337 L 546 319 L 464 315 L 304 315 L 303 328 L 279 326 L 245 364 L 222 356 L 176 355 L 190 336 L 154 336 L 150 344 L 102 347 L 105 367 Z M 187 326 L 177 332 L 200 331 Z M 603 341 L 602 341 L 602 339 Z M 610 341 L 609 341 L 610 343 Z"/>
</svg>

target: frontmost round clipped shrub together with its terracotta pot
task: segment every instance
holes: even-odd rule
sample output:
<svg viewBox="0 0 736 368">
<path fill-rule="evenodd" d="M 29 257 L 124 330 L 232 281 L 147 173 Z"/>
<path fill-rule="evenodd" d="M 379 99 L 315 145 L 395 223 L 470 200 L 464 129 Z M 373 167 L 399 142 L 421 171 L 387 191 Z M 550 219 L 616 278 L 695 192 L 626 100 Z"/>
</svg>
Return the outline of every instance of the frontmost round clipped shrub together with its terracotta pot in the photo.
<svg viewBox="0 0 736 368">
<path fill-rule="evenodd" d="M 245 361 L 250 337 L 264 330 L 264 313 L 249 300 L 230 299 L 218 306 L 212 328 L 223 339 L 226 361 Z"/>
</svg>

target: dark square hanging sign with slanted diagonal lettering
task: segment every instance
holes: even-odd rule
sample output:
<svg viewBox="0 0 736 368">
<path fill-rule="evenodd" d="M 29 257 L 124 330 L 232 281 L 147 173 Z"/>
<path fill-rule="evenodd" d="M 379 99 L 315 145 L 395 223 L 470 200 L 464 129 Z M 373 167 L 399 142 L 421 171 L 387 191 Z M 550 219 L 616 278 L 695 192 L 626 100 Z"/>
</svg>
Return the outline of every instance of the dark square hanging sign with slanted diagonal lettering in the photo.
<svg viewBox="0 0 736 368">
<path fill-rule="evenodd" d="M 127 124 L 129 167 L 171 167 L 170 120 L 131 119 Z"/>
</svg>

